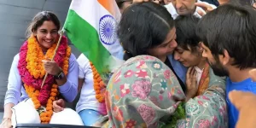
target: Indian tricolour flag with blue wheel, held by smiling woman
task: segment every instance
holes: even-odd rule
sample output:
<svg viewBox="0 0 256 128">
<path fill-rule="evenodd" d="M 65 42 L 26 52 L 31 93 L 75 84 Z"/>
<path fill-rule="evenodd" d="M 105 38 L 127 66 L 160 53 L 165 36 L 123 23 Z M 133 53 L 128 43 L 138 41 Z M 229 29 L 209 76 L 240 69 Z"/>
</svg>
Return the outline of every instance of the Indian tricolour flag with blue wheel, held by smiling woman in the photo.
<svg viewBox="0 0 256 128">
<path fill-rule="evenodd" d="M 120 12 L 115 0 L 73 0 L 64 24 L 67 37 L 92 63 L 98 73 L 119 65 L 123 52 L 116 36 Z"/>
</svg>

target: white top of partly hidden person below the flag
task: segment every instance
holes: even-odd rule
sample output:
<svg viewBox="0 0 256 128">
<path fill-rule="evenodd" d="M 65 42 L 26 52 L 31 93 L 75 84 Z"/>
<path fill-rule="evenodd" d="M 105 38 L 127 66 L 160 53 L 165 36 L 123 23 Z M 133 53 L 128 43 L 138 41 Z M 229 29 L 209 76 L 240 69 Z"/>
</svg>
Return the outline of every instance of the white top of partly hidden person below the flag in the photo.
<svg viewBox="0 0 256 128">
<path fill-rule="evenodd" d="M 79 55 L 79 79 L 84 79 L 79 102 L 76 111 L 79 113 L 84 109 L 93 109 L 98 111 L 99 102 L 96 100 L 96 93 L 93 84 L 93 73 L 90 67 L 90 61 L 83 54 Z"/>
</svg>

